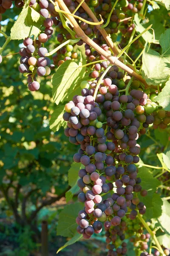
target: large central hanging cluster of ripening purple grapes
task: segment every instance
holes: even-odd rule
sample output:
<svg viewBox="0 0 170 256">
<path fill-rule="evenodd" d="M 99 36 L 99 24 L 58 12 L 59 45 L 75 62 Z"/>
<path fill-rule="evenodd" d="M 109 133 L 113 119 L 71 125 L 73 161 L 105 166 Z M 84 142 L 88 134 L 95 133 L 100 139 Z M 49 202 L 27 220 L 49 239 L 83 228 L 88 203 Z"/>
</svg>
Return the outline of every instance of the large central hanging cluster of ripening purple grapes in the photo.
<svg viewBox="0 0 170 256">
<path fill-rule="evenodd" d="M 111 68 L 110 75 L 115 68 Z M 132 220 L 138 211 L 146 211 L 139 198 L 133 197 L 133 192 L 147 195 L 137 177 L 135 163 L 139 162 L 140 146 L 136 140 L 144 129 L 142 125 L 153 123 L 154 117 L 145 111 L 146 93 L 133 89 L 125 95 L 119 93 L 113 82 L 114 79 L 106 77 L 94 99 L 96 81 L 83 81 L 82 96 L 74 96 L 63 114 L 68 122 L 65 135 L 71 143 L 80 145 L 74 161 L 85 166 L 79 171 L 77 182 L 82 190 L 78 199 L 85 203 L 77 218 L 77 232 L 87 239 L 94 232 L 101 232 L 102 222 L 109 220 L 112 227 L 118 226 L 127 207 Z M 143 112 L 138 110 L 139 106 L 144 108 Z M 116 192 L 102 201 L 100 194 L 113 190 L 113 186 Z"/>
</svg>

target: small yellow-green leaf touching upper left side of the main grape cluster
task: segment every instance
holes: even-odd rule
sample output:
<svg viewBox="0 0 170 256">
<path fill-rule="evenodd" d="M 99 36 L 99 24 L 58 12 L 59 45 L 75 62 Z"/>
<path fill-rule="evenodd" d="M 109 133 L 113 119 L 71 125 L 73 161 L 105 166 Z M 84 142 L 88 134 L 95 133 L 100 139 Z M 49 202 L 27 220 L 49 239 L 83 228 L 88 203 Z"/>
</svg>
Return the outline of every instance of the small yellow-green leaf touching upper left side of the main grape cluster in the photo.
<svg viewBox="0 0 170 256">
<path fill-rule="evenodd" d="M 50 119 L 50 129 L 52 131 L 58 131 L 59 128 L 63 127 L 66 128 L 67 127 L 67 122 L 64 121 L 64 119 L 62 118 L 64 111 L 64 107 L 65 104 L 59 104 L 58 106 L 55 107 L 54 112 L 51 115 L 51 119 Z"/>
</svg>

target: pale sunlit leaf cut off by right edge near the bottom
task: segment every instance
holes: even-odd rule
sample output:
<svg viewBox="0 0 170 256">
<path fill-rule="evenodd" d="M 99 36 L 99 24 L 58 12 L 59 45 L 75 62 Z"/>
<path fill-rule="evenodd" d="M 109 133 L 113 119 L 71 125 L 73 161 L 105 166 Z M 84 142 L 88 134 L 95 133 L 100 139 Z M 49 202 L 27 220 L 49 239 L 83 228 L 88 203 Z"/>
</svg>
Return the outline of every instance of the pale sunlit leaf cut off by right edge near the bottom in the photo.
<svg viewBox="0 0 170 256">
<path fill-rule="evenodd" d="M 170 234 L 170 203 L 168 203 L 168 201 L 164 198 L 162 198 L 162 201 L 162 214 L 158 220 L 163 229 L 166 230 L 168 234 Z"/>
</svg>

